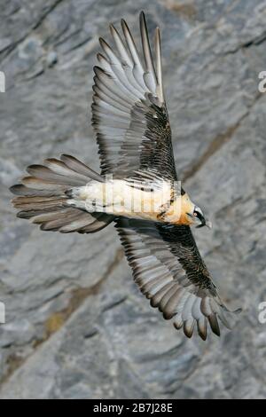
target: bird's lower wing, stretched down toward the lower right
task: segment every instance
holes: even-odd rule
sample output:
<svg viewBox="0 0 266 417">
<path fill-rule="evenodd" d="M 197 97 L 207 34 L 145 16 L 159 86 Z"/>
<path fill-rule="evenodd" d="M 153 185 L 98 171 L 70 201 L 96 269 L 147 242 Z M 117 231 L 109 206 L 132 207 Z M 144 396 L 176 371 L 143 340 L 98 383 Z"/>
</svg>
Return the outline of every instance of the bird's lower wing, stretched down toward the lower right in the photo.
<svg viewBox="0 0 266 417">
<path fill-rule="evenodd" d="M 231 328 L 189 226 L 120 218 L 116 227 L 138 287 L 164 319 L 187 337 L 197 325 L 203 340 L 207 322 L 217 335 L 219 319 Z"/>
</svg>

